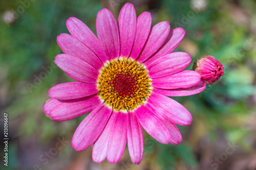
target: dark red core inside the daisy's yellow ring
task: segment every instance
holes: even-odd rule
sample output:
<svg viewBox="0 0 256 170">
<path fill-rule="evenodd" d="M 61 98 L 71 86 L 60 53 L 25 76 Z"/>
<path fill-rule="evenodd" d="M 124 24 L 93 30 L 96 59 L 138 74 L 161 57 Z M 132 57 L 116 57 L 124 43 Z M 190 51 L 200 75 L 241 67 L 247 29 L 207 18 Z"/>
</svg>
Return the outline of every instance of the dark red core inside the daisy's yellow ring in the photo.
<svg viewBox="0 0 256 170">
<path fill-rule="evenodd" d="M 114 91 L 121 97 L 132 95 L 137 88 L 135 78 L 130 74 L 117 74 L 112 84 Z"/>
</svg>

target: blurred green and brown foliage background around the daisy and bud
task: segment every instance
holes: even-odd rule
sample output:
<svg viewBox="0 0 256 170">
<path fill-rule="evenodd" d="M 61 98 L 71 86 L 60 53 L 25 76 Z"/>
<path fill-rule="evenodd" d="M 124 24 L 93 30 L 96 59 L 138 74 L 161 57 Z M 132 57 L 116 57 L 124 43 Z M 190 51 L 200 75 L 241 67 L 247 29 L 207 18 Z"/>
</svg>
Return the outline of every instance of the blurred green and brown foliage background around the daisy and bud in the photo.
<svg viewBox="0 0 256 170">
<path fill-rule="evenodd" d="M 137 15 L 149 11 L 153 25 L 167 20 L 186 36 L 176 51 L 215 56 L 225 68 L 220 81 L 203 92 L 174 98 L 193 115 L 178 126 L 180 145 L 161 144 L 144 133 L 145 152 L 134 165 L 127 147 L 121 161 L 97 164 L 92 147 L 72 149 L 81 116 L 67 122 L 46 117 L 48 89 L 72 81 L 53 63 L 61 53 L 56 37 L 68 33 L 66 20 L 77 17 L 94 33 L 97 12 L 109 8 L 118 17 L 126 2 Z M 1 0 L 0 124 L 9 115 L 9 166 L 0 169 L 256 169 L 256 1 L 246 0 Z M 192 68 L 192 63 L 188 69 Z M 61 141 L 60 145 L 56 145 Z"/>
</svg>

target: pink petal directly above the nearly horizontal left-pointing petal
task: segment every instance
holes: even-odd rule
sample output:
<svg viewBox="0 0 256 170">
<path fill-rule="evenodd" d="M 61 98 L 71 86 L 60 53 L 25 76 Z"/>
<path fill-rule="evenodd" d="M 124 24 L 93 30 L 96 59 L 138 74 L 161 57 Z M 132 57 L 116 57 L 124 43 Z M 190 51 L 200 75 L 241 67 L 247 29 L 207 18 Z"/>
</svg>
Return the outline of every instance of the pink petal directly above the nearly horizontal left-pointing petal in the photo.
<svg viewBox="0 0 256 170">
<path fill-rule="evenodd" d="M 54 62 L 72 79 L 84 83 L 97 83 L 99 72 L 77 57 L 59 54 L 55 57 Z"/>
</svg>

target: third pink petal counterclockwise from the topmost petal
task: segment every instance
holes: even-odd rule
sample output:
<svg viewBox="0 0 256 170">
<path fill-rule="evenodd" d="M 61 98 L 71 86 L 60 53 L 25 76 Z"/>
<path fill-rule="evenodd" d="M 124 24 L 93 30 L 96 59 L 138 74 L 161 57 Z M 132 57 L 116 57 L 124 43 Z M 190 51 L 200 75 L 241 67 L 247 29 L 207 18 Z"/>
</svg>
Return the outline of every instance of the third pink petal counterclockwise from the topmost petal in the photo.
<svg viewBox="0 0 256 170">
<path fill-rule="evenodd" d="M 60 34 L 57 37 L 57 42 L 63 53 L 87 62 L 97 70 L 103 66 L 100 59 L 90 50 L 90 48 L 71 35 Z"/>
</svg>

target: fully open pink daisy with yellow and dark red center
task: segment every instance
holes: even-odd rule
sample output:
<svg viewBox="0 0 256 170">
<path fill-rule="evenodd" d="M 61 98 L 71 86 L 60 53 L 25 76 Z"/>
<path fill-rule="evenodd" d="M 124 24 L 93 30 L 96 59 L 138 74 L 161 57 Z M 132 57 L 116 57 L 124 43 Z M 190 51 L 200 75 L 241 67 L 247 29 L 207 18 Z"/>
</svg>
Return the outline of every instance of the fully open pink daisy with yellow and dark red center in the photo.
<svg viewBox="0 0 256 170">
<path fill-rule="evenodd" d="M 67 20 L 71 35 L 57 37 L 64 54 L 55 63 L 77 82 L 52 87 L 44 111 L 57 121 L 91 112 L 75 131 L 72 146 L 83 151 L 93 144 L 97 163 L 105 158 L 118 162 L 127 142 L 132 161 L 139 164 L 142 127 L 161 143 L 179 144 L 182 136 L 175 124 L 189 125 L 192 116 L 167 96 L 205 89 L 198 72 L 183 70 L 191 62 L 189 54 L 172 53 L 185 31 L 170 30 L 167 21 L 151 29 L 151 21 L 149 12 L 136 18 L 134 6 L 127 3 L 118 23 L 108 9 L 98 12 L 98 38 L 74 17 Z"/>
</svg>

